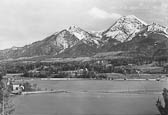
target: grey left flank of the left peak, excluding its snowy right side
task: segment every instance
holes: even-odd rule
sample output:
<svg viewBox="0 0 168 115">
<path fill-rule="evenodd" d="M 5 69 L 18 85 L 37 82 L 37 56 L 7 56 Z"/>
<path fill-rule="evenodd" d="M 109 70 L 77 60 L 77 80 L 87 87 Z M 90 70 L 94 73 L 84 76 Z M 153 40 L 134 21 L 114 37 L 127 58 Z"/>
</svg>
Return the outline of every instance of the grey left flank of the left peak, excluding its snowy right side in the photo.
<svg viewBox="0 0 168 115">
<path fill-rule="evenodd" d="M 17 50 L 7 49 L 0 51 L 2 58 L 19 58 L 42 55 L 56 55 L 66 48 L 72 47 L 79 39 L 67 30 L 62 30 L 42 41 L 34 42 Z"/>
</svg>

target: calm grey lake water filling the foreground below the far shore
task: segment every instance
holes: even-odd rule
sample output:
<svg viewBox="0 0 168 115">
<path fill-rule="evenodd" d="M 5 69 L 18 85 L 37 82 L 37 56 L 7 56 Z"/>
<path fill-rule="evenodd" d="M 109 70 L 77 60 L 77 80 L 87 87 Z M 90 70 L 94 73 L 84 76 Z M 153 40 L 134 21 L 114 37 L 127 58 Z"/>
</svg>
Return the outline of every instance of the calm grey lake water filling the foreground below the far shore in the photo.
<svg viewBox="0 0 168 115">
<path fill-rule="evenodd" d="M 40 81 L 53 94 L 17 96 L 14 115 L 157 115 L 155 103 L 167 81 Z"/>
</svg>

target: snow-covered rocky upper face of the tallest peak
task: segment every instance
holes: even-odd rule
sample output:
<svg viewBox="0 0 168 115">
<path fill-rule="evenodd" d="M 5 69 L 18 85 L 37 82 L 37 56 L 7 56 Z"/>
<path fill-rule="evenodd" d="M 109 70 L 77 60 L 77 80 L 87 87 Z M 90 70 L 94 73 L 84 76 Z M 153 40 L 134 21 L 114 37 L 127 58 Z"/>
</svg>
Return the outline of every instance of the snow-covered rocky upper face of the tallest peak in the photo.
<svg viewBox="0 0 168 115">
<path fill-rule="evenodd" d="M 123 16 L 108 30 L 103 32 L 103 36 L 105 40 L 112 38 L 120 42 L 130 41 L 145 26 L 147 24 L 134 15 Z"/>
</svg>

